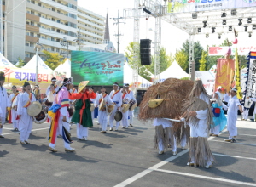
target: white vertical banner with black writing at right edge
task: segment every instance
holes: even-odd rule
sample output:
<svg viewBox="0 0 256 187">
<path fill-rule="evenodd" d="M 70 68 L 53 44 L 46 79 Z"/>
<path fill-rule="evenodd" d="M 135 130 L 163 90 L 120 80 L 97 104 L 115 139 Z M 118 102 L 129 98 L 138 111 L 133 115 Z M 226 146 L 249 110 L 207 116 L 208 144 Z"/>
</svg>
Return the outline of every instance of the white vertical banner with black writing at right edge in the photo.
<svg viewBox="0 0 256 187">
<path fill-rule="evenodd" d="M 247 82 L 245 90 L 244 107 L 250 108 L 253 101 L 250 98 L 255 98 L 255 84 L 256 84 L 256 52 L 250 52 L 247 57 Z"/>
</svg>

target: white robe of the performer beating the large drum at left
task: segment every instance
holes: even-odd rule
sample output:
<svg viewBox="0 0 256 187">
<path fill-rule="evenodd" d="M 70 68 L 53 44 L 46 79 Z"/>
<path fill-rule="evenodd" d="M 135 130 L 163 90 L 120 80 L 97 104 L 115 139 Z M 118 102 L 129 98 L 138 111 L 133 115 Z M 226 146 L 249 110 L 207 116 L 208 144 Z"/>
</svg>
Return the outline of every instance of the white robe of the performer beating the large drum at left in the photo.
<svg viewBox="0 0 256 187">
<path fill-rule="evenodd" d="M 32 116 L 29 116 L 27 114 L 27 107 L 25 107 L 29 101 L 30 102 L 36 101 L 34 94 L 32 94 L 31 99 L 29 98 L 29 94 L 27 93 L 20 95 L 17 115 L 21 115 L 19 119 L 19 130 L 20 130 L 20 141 L 22 142 L 28 140 L 29 135 L 32 131 L 33 119 L 32 119 Z"/>
</svg>

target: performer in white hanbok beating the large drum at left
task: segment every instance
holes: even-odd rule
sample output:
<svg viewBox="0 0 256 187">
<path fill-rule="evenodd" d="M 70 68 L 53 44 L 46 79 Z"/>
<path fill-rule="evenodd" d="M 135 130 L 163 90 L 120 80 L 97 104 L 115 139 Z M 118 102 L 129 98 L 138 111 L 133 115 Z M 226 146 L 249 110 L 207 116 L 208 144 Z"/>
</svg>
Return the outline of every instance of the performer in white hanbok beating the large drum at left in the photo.
<svg viewBox="0 0 256 187">
<path fill-rule="evenodd" d="M 26 92 L 20 95 L 17 115 L 19 118 L 20 144 L 30 144 L 28 142 L 29 135 L 32 131 L 33 118 L 27 113 L 27 107 L 36 101 L 30 83 L 25 82 L 23 85 Z"/>
</svg>

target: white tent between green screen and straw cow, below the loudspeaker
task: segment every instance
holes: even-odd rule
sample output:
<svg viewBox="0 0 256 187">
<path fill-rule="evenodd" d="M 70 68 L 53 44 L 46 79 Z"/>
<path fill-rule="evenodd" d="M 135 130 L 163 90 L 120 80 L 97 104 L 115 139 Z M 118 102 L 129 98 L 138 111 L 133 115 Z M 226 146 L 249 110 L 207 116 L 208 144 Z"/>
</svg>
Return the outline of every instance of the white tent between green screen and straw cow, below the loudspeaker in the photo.
<svg viewBox="0 0 256 187">
<path fill-rule="evenodd" d="M 132 69 L 128 63 L 124 65 L 124 83 L 132 84 Z M 138 83 L 139 88 L 148 88 L 153 84 L 141 76 L 138 76 Z"/>
</svg>

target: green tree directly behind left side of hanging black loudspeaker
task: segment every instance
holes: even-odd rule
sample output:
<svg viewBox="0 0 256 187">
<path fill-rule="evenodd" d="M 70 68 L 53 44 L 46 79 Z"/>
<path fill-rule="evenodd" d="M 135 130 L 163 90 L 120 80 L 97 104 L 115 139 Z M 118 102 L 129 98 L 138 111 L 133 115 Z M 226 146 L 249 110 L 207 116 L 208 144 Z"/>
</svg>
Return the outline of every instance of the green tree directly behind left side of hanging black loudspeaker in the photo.
<svg viewBox="0 0 256 187">
<path fill-rule="evenodd" d="M 135 45 L 137 45 L 137 50 L 134 50 Z M 138 60 L 134 60 L 134 57 L 137 56 Z M 148 65 L 141 65 L 141 58 L 140 58 L 140 47 L 138 42 L 130 42 L 125 50 L 125 57 L 128 60 L 128 64 L 131 65 L 132 69 L 138 68 L 138 74 L 147 79 L 148 81 L 151 80 L 150 73 L 148 72 Z"/>
</svg>

